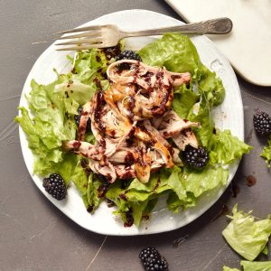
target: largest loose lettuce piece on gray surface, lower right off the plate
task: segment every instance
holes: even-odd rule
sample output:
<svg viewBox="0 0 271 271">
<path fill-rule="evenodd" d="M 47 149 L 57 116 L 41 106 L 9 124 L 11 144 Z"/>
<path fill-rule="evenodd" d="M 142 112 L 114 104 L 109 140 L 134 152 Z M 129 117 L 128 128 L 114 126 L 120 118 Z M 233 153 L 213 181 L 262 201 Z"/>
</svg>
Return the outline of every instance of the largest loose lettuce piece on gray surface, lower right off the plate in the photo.
<svg viewBox="0 0 271 271">
<path fill-rule="evenodd" d="M 271 234 L 271 219 L 268 217 L 266 220 L 256 221 L 250 213 L 251 211 L 238 211 L 238 206 L 235 205 L 233 215 L 229 216 L 231 222 L 222 231 L 222 235 L 238 254 L 253 261 L 266 247 Z"/>
</svg>

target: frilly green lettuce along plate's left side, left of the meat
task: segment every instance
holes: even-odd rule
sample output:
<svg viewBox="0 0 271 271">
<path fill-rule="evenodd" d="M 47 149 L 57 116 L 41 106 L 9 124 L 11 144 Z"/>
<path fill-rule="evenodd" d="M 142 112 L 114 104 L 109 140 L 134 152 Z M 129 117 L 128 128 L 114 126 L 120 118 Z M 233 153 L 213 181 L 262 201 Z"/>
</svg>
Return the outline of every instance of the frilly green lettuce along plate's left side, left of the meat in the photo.
<svg viewBox="0 0 271 271">
<path fill-rule="evenodd" d="M 57 74 L 57 79 L 46 86 L 32 80 L 32 90 L 26 97 L 28 107 L 19 108 L 21 116 L 15 117 L 27 135 L 28 145 L 34 156 L 34 173 L 45 176 L 60 173 L 66 184 L 77 162 L 78 155 L 63 152 L 63 141 L 76 136 L 77 126 L 74 115 L 79 105 L 85 104 L 97 89 L 105 90 L 107 60 L 105 53 L 98 49 L 79 52 L 73 60 L 73 70 Z M 94 142 L 93 135 L 87 135 Z"/>
</svg>

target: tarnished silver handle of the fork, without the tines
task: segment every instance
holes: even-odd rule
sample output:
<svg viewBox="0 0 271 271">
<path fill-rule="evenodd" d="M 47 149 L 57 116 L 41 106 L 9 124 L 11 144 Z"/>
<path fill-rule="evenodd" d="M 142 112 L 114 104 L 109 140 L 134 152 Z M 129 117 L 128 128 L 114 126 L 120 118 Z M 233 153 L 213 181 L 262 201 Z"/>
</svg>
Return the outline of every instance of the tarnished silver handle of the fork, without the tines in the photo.
<svg viewBox="0 0 271 271">
<path fill-rule="evenodd" d="M 161 35 L 164 33 L 184 34 L 225 34 L 232 29 L 232 22 L 229 18 L 217 18 L 199 23 L 188 23 L 183 25 L 150 29 L 136 32 L 120 32 L 121 39 L 126 37 L 138 37 L 149 35 Z"/>
</svg>

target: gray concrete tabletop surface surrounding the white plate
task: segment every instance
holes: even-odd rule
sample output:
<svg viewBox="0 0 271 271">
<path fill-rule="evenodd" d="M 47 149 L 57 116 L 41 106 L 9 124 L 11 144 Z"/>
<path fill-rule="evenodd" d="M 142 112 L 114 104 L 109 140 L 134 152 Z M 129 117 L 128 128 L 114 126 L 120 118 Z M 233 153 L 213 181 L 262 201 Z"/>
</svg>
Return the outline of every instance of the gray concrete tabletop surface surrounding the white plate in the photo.
<svg viewBox="0 0 271 271">
<path fill-rule="evenodd" d="M 231 209 L 238 202 L 259 218 L 271 212 L 271 173 L 259 157 L 265 142 L 257 138 L 252 126 L 255 109 L 271 113 L 271 88 L 253 86 L 239 77 L 246 138 L 255 148 L 234 178 L 237 197 L 232 197 L 229 187 L 220 201 L 190 225 L 145 237 L 100 236 L 79 228 L 35 187 L 14 124 L 23 83 L 34 61 L 49 46 L 51 33 L 133 8 L 178 18 L 159 0 L 0 1 L 0 270 L 143 270 L 137 255 L 148 245 L 164 254 L 171 271 L 221 270 L 223 265 L 238 266 L 240 260 L 221 236 L 226 218 L 212 220 L 223 204 Z M 249 174 L 257 178 L 252 187 L 246 185 Z M 187 235 L 179 247 L 173 246 Z"/>
</svg>

